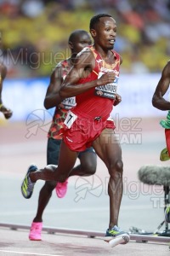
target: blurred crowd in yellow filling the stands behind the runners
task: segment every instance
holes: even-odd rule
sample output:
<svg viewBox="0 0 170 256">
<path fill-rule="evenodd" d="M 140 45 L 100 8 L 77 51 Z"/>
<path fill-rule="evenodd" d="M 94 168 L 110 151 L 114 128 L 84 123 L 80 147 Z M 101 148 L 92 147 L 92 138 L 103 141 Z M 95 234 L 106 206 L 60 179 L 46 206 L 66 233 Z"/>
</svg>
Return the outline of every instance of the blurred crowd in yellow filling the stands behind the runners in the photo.
<svg viewBox="0 0 170 256">
<path fill-rule="evenodd" d="M 122 73 L 160 73 L 170 55 L 170 0 L 0 0 L 0 59 L 8 78 L 49 76 L 69 34 L 98 13 L 117 23 Z"/>
</svg>

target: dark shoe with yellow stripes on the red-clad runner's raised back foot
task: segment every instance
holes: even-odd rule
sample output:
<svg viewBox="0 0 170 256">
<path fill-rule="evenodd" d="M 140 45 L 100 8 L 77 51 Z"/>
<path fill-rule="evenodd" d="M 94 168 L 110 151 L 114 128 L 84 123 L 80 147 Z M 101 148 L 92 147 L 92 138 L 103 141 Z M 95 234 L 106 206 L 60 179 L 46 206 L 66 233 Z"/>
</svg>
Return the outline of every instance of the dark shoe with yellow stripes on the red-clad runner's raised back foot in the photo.
<svg viewBox="0 0 170 256">
<path fill-rule="evenodd" d="M 33 192 L 33 189 L 34 189 L 34 185 L 35 183 L 32 183 L 31 182 L 31 179 L 29 177 L 29 174 L 31 172 L 36 172 L 37 171 L 37 166 L 35 165 L 31 165 L 29 168 L 28 168 L 28 171 L 26 172 L 26 177 L 24 178 L 22 184 L 21 184 L 21 192 L 22 192 L 22 195 L 26 198 L 26 199 L 29 199 L 31 198 L 31 195 L 32 195 L 32 192 Z"/>
</svg>

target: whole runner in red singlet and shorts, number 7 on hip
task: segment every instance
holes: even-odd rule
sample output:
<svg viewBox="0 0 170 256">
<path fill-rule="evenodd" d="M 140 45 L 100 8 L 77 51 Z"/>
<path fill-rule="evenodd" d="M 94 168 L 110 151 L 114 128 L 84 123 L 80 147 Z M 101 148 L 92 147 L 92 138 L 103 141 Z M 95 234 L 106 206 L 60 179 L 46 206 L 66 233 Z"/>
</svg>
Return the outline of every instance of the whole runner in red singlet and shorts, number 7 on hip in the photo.
<svg viewBox="0 0 170 256">
<path fill-rule="evenodd" d="M 122 149 L 114 131 L 114 123 L 107 126 L 112 106 L 116 104 L 119 65 L 122 64 L 122 58 L 113 51 L 116 20 L 107 14 L 95 15 L 90 20 L 90 33 L 94 38 L 93 47 L 86 48 L 77 55 L 59 90 L 60 96 L 64 98 L 77 96 L 77 106 L 71 108 L 65 119 L 59 166 L 46 166 L 39 170 L 37 167 L 29 168 L 21 190 L 26 198 L 30 198 L 38 179 L 64 182 L 75 165 L 77 150 L 92 145 L 110 174 L 110 223 L 105 241 L 115 238 L 119 240 L 121 236 L 120 242 L 127 243 L 127 232 L 118 228 L 122 201 Z M 77 148 L 76 142 L 80 144 Z"/>
</svg>

